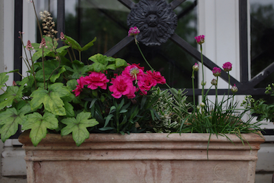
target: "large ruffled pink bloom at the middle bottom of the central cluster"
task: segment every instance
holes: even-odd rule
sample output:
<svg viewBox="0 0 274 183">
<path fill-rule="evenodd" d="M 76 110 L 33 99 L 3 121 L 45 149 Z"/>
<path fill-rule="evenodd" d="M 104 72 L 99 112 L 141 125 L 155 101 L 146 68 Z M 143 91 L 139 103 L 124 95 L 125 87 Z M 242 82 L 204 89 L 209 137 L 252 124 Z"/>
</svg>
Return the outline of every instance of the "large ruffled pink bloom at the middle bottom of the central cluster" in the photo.
<svg viewBox="0 0 274 183">
<path fill-rule="evenodd" d="M 133 86 L 132 80 L 123 75 L 119 75 L 116 78 L 112 78 L 110 82 L 112 86 L 109 87 L 110 91 L 113 92 L 112 96 L 116 99 L 122 97 L 122 95 L 127 96 L 129 99 L 135 97 L 136 87 Z"/>
</svg>

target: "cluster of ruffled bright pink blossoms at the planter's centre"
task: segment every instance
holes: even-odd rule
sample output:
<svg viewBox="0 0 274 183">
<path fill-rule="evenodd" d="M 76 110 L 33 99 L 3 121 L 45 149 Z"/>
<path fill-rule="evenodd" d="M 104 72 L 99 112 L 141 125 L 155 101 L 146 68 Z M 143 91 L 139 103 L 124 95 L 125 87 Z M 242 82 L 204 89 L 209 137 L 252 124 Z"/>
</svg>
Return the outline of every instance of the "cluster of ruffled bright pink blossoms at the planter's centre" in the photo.
<svg viewBox="0 0 274 183">
<path fill-rule="evenodd" d="M 136 97 L 136 93 L 147 95 L 147 91 L 151 87 L 156 86 L 156 84 L 165 84 L 166 79 L 158 71 L 144 72 L 144 67 L 139 66 L 139 64 L 131 64 L 125 67 L 121 75 L 112 77 L 111 81 L 107 79 L 104 73 L 97 72 L 91 72 L 86 77 L 80 77 L 73 92 L 76 97 L 79 96 L 86 85 L 92 90 L 98 87 L 105 90 L 108 82 L 112 84 L 108 87 L 112 92 L 112 97 L 119 99 L 125 95 L 128 99 L 133 99 Z"/>
</svg>

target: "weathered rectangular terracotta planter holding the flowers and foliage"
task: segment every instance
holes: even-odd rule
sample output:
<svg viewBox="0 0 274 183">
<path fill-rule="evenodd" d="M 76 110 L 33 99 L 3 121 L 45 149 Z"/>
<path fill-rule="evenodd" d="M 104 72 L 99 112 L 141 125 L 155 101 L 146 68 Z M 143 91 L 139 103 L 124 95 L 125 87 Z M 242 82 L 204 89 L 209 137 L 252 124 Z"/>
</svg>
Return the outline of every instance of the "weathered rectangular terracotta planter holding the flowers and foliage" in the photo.
<svg viewBox="0 0 274 183">
<path fill-rule="evenodd" d="M 90 134 L 80 147 L 72 136 L 47 134 L 34 147 L 24 132 L 27 182 L 254 182 L 257 151 L 264 142 L 243 134 Z"/>
</svg>

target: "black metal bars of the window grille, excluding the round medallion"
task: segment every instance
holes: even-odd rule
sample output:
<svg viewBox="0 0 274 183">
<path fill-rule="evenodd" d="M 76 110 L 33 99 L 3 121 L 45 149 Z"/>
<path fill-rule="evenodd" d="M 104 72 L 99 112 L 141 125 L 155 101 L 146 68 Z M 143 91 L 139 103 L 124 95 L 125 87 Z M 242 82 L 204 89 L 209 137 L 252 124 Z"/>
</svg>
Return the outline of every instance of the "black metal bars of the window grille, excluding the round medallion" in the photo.
<svg viewBox="0 0 274 183">
<path fill-rule="evenodd" d="M 117 0 L 125 7 L 131 10 L 135 3 L 131 0 Z M 186 0 L 173 0 L 170 5 L 173 10 L 177 8 L 181 3 L 184 3 Z M 248 56 L 248 19 L 247 17 L 247 0 L 239 0 L 239 35 L 240 35 L 240 80 L 236 80 L 234 77 L 230 77 L 230 81 L 238 87 L 238 92 L 236 95 L 264 95 L 265 88 L 255 88 L 257 84 L 262 82 L 266 77 L 268 77 L 271 73 L 274 72 L 274 62 L 267 66 L 263 71 L 261 71 L 258 75 L 249 80 L 249 56 Z M 65 0 L 58 0 L 58 17 L 57 17 L 57 29 L 58 34 L 60 32 L 65 32 L 64 30 L 64 19 L 65 19 Z M 19 69 L 22 73 L 22 45 L 21 41 L 18 38 L 18 32 L 23 28 L 23 0 L 14 1 L 14 69 Z M 60 36 L 60 35 L 58 35 Z M 201 62 L 200 52 L 197 48 L 192 47 L 188 42 L 186 42 L 183 38 L 178 36 L 177 34 L 173 34 L 170 38 L 173 42 L 175 42 L 180 48 L 186 51 L 190 56 Z M 105 53 L 105 56 L 114 56 L 115 53 L 119 52 L 121 49 L 129 45 L 134 41 L 132 36 L 126 36 L 118 42 L 114 47 L 108 50 Z M 213 69 L 214 66 L 217 66 L 210 59 L 203 56 L 203 63 L 208 69 Z M 228 82 L 228 75 L 226 72 L 221 73 L 221 78 Z M 21 80 L 21 76 L 17 73 L 14 73 L 14 80 Z M 186 95 L 192 96 L 192 88 L 186 88 L 188 93 Z M 218 89 L 219 95 L 223 95 L 227 92 L 227 89 Z M 208 93 L 208 95 L 214 95 L 215 90 L 212 89 Z M 201 95 L 201 89 L 195 89 L 195 95 Z M 17 132 L 14 137 L 17 137 L 19 132 Z"/>
</svg>

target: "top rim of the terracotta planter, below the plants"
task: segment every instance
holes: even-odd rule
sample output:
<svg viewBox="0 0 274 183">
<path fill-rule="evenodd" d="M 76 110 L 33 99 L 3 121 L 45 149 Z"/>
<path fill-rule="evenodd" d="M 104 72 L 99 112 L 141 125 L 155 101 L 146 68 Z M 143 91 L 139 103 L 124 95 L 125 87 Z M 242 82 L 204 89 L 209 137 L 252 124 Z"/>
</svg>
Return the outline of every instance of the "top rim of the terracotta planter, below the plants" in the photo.
<svg viewBox="0 0 274 183">
<path fill-rule="evenodd" d="M 242 142 L 236 134 L 225 134 L 234 143 Z M 263 136 L 258 134 L 241 134 L 243 140 L 247 140 L 249 143 L 257 142 L 264 143 Z M 210 134 L 155 134 L 155 133 L 140 133 L 140 134 L 90 134 L 90 137 L 85 140 L 86 143 L 100 143 L 100 142 L 161 142 L 161 141 L 180 141 L 180 142 L 207 142 Z M 212 134 L 210 142 L 230 142 L 225 136 Z M 19 142 L 23 144 L 31 143 L 29 138 L 29 132 L 23 132 L 18 138 Z M 60 134 L 47 134 L 46 138 L 43 138 L 40 143 L 75 143 L 71 135 L 60 136 Z"/>
</svg>

